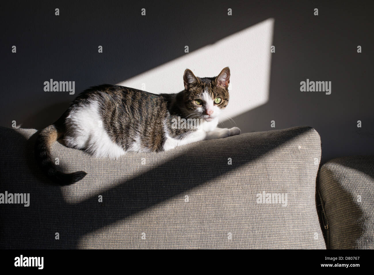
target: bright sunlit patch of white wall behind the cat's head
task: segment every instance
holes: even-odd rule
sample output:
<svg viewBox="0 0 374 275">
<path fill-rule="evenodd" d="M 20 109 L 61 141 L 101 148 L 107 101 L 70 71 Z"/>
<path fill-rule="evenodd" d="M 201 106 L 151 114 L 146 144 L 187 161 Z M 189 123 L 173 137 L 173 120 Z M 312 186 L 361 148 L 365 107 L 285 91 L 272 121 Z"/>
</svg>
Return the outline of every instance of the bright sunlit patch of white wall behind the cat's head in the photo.
<svg viewBox="0 0 374 275">
<path fill-rule="evenodd" d="M 184 89 L 186 68 L 199 77 L 213 77 L 228 66 L 230 102 L 224 115 L 235 117 L 269 100 L 273 30 L 274 19 L 269 18 L 117 85 L 157 94 L 176 93 Z"/>
</svg>

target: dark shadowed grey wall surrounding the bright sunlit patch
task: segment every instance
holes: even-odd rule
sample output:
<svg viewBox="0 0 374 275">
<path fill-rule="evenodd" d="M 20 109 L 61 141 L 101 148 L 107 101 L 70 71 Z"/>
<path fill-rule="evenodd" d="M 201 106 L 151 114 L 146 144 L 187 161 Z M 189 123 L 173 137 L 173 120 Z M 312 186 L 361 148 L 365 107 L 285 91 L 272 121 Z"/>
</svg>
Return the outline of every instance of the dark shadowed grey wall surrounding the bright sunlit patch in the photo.
<svg viewBox="0 0 374 275">
<path fill-rule="evenodd" d="M 119 83 L 184 55 L 187 44 L 191 52 L 274 18 L 269 101 L 233 118 L 237 126 L 243 132 L 272 130 L 275 120 L 276 129 L 315 127 L 323 162 L 374 154 L 373 1 L 246 2 L 8 2 L 1 8 L 0 125 L 11 127 L 16 120 L 41 129 L 89 86 Z M 140 15 L 143 7 L 146 16 Z M 44 92 L 50 78 L 76 81 L 76 95 Z M 300 92 L 307 78 L 332 81 L 331 95 Z"/>
</svg>

